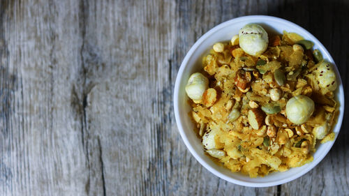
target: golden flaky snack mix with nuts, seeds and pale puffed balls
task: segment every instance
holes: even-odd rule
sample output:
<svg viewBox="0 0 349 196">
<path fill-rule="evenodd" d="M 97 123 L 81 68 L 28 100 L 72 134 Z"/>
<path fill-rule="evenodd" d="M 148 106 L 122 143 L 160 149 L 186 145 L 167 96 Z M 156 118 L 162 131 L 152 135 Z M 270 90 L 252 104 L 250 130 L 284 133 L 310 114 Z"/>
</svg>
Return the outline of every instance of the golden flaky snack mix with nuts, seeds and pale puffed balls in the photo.
<svg viewBox="0 0 349 196">
<path fill-rule="evenodd" d="M 339 103 L 334 66 L 297 33 L 247 24 L 203 56 L 186 85 L 190 116 L 211 158 L 251 177 L 313 160 L 334 140 Z"/>
</svg>

